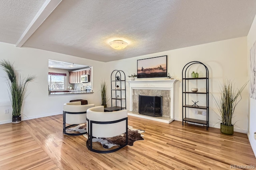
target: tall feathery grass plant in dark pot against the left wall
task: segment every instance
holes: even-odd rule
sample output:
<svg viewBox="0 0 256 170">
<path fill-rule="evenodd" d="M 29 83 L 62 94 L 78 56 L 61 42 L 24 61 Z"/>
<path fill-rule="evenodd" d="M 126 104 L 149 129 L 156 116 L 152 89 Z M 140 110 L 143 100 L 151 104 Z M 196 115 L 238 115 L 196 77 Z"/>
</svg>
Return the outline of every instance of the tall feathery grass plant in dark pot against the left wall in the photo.
<svg viewBox="0 0 256 170">
<path fill-rule="evenodd" d="M 28 82 L 34 80 L 35 76 L 29 76 L 22 79 L 18 76 L 13 64 L 8 60 L 1 60 L 0 66 L 8 76 L 9 96 L 12 102 L 12 123 L 21 122 L 21 109 L 26 93 L 26 85 Z"/>
</svg>

